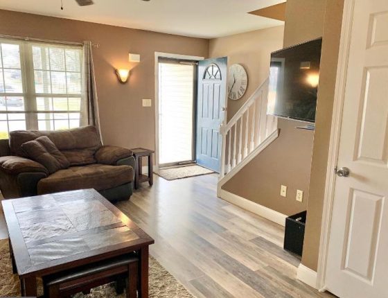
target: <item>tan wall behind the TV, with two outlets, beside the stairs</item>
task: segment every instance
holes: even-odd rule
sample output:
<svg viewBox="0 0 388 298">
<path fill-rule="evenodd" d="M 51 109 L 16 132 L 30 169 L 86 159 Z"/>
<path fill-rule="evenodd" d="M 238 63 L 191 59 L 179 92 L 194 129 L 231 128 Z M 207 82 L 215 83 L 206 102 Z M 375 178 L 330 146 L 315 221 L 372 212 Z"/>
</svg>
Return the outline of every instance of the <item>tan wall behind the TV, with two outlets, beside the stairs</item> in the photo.
<svg viewBox="0 0 388 298">
<path fill-rule="evenodd" d="M 326 0 L 287 1 L 284 46 L 322 36 L 325 3 Z M 314 132 L 299 130 L 299 125 L 297 121 L 279 119 L 279 138 L 222 189 L 286 215 L 306 210 Z M 281 184 L 288 186 L 287 198 L 280 196 Z M 295 200 L 297 189 L 304 191 L 302 203 Z"/>
</svg>

